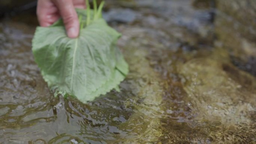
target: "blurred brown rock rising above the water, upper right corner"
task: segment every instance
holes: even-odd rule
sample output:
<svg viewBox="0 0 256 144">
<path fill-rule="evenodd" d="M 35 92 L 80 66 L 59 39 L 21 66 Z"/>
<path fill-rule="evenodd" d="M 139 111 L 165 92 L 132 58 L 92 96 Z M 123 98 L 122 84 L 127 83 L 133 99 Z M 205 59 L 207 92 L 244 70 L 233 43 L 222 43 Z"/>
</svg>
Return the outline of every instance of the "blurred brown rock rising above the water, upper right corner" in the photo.
<svg viewBox="0 0 256 144">
<path fill-rule="evenodd" d="M 256 56 L 256 1 L 216 0 L 216 34 L 232 55 Z"/>
</svg>

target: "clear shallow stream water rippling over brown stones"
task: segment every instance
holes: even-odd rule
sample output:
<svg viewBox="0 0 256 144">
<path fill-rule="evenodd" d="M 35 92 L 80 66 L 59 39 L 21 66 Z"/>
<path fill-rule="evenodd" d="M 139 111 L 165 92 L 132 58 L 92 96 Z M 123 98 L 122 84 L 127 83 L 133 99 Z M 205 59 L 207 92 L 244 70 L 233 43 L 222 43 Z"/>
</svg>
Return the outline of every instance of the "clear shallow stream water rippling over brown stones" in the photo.
<svg viewBox="0 0 256 144">
<path fill-rule="evenodd" d="M 31 53 L 34 15 L 2 19 L 0 143 L 256 144 L 253 33 L 210 0 L 152 1 L 107 1 L 130 73 L 121 92 L 88 104 L 48 90 Z"/>
</svg>

